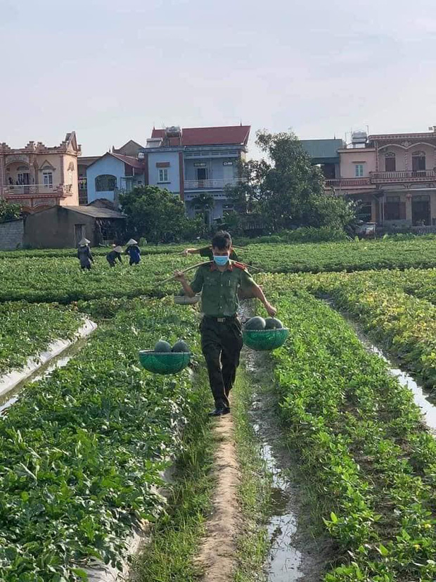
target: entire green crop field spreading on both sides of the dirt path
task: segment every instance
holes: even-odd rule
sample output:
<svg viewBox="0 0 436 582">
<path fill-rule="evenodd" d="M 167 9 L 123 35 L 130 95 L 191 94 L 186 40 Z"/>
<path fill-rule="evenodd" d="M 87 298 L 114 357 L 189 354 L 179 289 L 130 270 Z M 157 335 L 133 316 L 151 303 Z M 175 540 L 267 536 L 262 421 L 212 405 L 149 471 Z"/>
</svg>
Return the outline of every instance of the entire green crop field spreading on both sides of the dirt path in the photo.
<svg viewBox="0 0 436 582">
<path fill-rule="evenodd" d="M 436 274 L 428 267 L 436 266 L 435 244 L 259 243 L 239 253 L 262 268 L 255 279 L 290 329 L 288 342 L 269 358 L 269 388 L 283 439 L 316 499 L 317 513 L 308 519 L 335 549 L 324 582 L 436 579 L 435 436 L 411 392 L 367 352 L 340 313 L 434 390 Z M 58 251 L 0 255 L 0 373 L 53 339 L 72 336 L 83 317 L 98 322 L 68 365 L 25 387 L 0 416 L 1 581 L 86 580 L 91 557 L 120 564 L 132 526 L 144 519 L 158 521 L 156 536 L 164 536 L 168 556 L 175 552 L 176 533 L 165 538 L 162 470 L 170 458 L 183 457 L 184 426 L 198 422 L 199 407 L 207 412 L 210 396 L 198 308 L 174 305 L 176 284 L 156 285 L 203 259 L 181 257 L 183 246 L 177 253 L 162 247 L 154 254 L 148 246 L 139 267 L 124 259 L 110 269 L 96 253 L 91 272 Z M 141 369 L 138 350 L 161 338 L 187 341 L 193 368 L 174 377 Z M 205 423 L 214 430 L 213 421 Z M 207 476 L 209 465 L 202 470 Z M 172 502 L 189 506 L 177 495 Z M 176 514 L 177 505 L 167 510 Z M 190 511 L 188 521 L 206 520 L 210 505 L 204 499 Z M 204 530 L 194 530 L 181 556 L 188 565 L 144 571 L 161 571 L 159 582 L 198 580 L 191 554 Z"/>
</svg>

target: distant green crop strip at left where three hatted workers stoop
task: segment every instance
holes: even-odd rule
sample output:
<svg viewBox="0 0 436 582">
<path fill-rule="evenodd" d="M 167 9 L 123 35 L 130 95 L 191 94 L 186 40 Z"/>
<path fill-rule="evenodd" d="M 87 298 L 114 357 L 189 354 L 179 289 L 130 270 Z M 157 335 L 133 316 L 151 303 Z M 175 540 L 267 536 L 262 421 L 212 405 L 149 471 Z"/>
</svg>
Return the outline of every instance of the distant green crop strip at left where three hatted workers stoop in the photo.
<svg viewBox="0 0 436 582">
<path fill-rule="evenodd" d="M 111 268 L 104 257 L 96 258 L 91 271 L 82 271 L 73 258 L 20 258 L 0 260 L 0 302 L 30 301 L 70 303 L 79 299 L 136 297 L 178 290 L 172 284 L 156 284 L 203 259 L 179 255 L 148 255 L 137 267 L 127 259 Z"/>
</svg>

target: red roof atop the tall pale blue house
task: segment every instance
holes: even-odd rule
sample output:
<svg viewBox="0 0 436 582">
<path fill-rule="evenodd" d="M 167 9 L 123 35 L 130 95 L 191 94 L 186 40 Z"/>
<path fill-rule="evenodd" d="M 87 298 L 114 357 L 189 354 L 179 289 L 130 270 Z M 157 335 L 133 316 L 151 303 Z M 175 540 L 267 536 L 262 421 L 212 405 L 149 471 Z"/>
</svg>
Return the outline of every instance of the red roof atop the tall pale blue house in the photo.
<svg viewBox="0 0 436 582">
<path fill-rule="evenodd" d="M 250 125 L 229 125 L 227 127 L 184 127 L 181 130 L 182 146 L 226 146 L 247 145 Z M 153 129 L 151 137 L 163 137 L 163 129 Z M 170 146 L 178 146 L 179 139 L 169 139 Z"/>
</svg>

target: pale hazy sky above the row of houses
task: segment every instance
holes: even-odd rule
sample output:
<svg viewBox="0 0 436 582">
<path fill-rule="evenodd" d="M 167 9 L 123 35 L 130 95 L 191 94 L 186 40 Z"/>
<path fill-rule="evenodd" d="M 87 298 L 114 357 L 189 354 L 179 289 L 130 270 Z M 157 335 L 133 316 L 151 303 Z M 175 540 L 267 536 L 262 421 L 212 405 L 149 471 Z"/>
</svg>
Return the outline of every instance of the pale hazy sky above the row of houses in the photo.
<svg viewBox="0 0 436 582">
<path fill-rule="evenodd" d="M 434 0 L 0 0 L 0 142 L 84 156 L 155 127 L 301 139 L 436 125 Z"/>
</svg>

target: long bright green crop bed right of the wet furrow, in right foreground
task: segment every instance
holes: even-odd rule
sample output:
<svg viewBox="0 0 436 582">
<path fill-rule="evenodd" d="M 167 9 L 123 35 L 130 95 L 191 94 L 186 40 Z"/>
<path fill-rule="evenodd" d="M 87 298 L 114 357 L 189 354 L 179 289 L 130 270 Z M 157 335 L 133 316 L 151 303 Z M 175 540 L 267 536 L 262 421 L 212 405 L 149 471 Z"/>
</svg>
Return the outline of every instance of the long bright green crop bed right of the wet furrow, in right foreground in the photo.
<svg viewBox="0 0 436 582">
<path fill-rule="evenodd" d="M 268 291 L 290 328 L 274 354 L 288 436 L 342 551 L 326 582 L 436 576 L 436 441 L 407 388 L 305 291 Z"/>
</svg>

